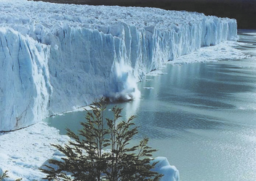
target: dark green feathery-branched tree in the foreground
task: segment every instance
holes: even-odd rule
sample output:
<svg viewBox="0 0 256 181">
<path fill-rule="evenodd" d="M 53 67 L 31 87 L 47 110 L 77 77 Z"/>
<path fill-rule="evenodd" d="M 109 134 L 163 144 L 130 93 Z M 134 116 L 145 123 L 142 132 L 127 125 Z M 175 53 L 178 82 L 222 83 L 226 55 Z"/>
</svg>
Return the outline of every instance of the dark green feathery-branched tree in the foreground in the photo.
<svg viewBox="0 0 256 181">
<path fill-rule="evenodd" d="M 136 146 L 129 146 L 138 133 L 135 116 L 121 120 L 122 109 L 111 109 L 113 119 L 105 118 L 107 102 L 100 98 L 87 111 L 79 134 L 68 130 L 71 138 L 65 146 L 52 145 L 65 155 L 50 159 L 41 168 L 47 180 L 159 180 L 162 175 L 151 171 L 157 164 L 151 159 L 156 150 L 144 138 Z"/>
</svg>

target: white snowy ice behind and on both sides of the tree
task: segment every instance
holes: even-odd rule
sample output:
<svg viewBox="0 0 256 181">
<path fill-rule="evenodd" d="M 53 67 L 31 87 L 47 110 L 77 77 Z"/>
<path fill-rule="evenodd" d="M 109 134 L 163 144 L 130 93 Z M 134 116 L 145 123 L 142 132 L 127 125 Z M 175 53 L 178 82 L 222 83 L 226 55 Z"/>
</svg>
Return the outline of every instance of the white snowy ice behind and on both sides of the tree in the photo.
<svg viewBox="0 0 256 181">
<path fill-rule="evenodd" d="M 60 153 L 52 144 L 68 142 L 68 136 L 60 135 L 54 127 L 44 122 L 15 132 L 0 135 L 0 175 L 9 170 L 6 180 L 41 180 L 45 174 L 39 171 L 47 159 L 59 158 Z M 164 157 L 157 157 L 154 171 L 164 174 L 161 180 L 179 180 L 179 171 L 170 166 Z"/>
</svg>

